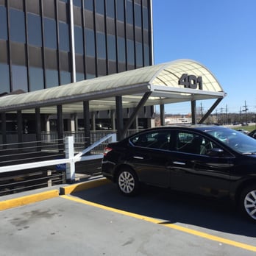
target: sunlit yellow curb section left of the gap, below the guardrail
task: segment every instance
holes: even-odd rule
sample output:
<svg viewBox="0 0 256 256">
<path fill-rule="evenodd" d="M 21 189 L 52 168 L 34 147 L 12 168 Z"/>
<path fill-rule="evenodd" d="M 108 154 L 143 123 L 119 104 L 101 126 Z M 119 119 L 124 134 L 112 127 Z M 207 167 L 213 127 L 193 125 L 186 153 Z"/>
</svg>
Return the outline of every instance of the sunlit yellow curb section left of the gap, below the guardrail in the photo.
<svg viewBox="0 0 256 256">
<path fill-rule="evenodd" d="M 51 199 L 54 197 L 59 196 L 59 191 L 52 190 L 52 191 L 45 191 L 41 193 L 35 193 L 29 196 L 21 196 L 15 199 L 9 199 L 0 202 L 0 210 L 7 210 L 13 207 L 18 207 L 21 205 L 29 205 L 34 202 L 40 202 L 46 199 Z"/>
</svg>

